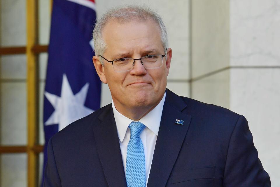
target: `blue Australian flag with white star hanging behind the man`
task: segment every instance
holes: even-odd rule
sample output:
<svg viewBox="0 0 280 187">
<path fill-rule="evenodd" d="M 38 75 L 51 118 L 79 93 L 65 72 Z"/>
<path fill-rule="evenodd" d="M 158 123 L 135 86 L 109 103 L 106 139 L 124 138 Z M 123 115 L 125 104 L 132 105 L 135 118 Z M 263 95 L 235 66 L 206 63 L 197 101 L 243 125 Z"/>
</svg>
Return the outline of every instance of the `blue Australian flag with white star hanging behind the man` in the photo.
<svg viewBox="0 0 280 187">
<path fill-rule="evenodd" d="M 53 0 L 44 92 L 44 131 L 50 137 L 100 106 L 101 82 L 92 63 L 94 0 Z M 47 162 L 44 149 L 44 168 Z"/>
</svg>

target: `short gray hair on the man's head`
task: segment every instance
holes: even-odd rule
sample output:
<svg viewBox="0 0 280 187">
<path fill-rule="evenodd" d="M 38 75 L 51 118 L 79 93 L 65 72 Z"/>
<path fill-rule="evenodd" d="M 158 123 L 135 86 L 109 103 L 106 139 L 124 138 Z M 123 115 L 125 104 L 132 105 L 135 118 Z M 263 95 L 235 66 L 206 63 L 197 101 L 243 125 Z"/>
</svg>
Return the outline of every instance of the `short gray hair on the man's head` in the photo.
<svg viewBox="0 0 280 187">
<path fill-rule="evenodd" d="M 92 33 L 95 55 L 103 55 L 106 50 L 106 43 L 102 38 L 102 31 L 105 25 L 111 19 L 115 19 L 120 23 L 124 23 L 132 20 L 146 21 L 148 18 L 154 20 L 158 24 L 161 31 L 162 45 L 164 47 L 164 50 L 166 50 L 168 47 L 167 31 L 160 15 L 158 15 L 155 11 L 148 8 L 147 6 L 129 5 L 124 7 L 112 8 L 107 11 L 107 13 L 102 15 L 101 18 L 97 21 Z M 100 62 L 102 65 L 104 65 L 102 58 L 100 58 Z"/>
</svg>

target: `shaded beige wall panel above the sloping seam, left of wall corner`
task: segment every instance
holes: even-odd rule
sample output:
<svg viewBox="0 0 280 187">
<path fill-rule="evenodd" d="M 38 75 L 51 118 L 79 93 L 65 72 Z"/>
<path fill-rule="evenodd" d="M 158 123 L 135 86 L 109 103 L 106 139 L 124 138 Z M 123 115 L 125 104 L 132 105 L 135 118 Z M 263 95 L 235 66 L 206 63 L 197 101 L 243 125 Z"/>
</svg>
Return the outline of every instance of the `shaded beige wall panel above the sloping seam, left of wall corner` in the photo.
<svg viewBox="0 0 280 187">
<path fill-rule="evenodd" d="M 192 78 L 229 66 L 229 1 L 191 1 Z"/>
</svg>

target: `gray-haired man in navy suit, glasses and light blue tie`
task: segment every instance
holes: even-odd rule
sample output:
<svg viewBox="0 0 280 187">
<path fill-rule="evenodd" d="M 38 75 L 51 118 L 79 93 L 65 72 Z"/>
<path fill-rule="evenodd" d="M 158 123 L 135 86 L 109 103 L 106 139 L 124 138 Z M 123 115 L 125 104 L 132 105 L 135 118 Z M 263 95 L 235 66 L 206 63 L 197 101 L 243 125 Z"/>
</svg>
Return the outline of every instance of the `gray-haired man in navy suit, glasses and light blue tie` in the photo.
<svg viewBox="0 0 280 187">
<path fill-rule="evenodd" d="M 159 15 L 112 9 L 93 38 L 113 101 L 50 139 L 44 186 L 270 186 L 243 116 L 166 89 Z"/>
</svg>

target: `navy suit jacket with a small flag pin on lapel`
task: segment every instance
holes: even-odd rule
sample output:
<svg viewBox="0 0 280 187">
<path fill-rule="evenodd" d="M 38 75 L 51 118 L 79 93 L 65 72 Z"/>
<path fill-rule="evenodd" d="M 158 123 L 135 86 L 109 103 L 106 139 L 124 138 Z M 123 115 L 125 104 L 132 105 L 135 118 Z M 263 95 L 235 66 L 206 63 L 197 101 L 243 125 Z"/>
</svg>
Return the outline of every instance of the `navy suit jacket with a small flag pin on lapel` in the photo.
<svg viewBox="0 0 280 187">
<path fill-rule="evenodd" d="M 111 104 L 50 139 L 44 186 L 126 186 Z M 167 89 L 148 179 L 164 186 L 271 185 L 244 116 Z"/>
</svg>

